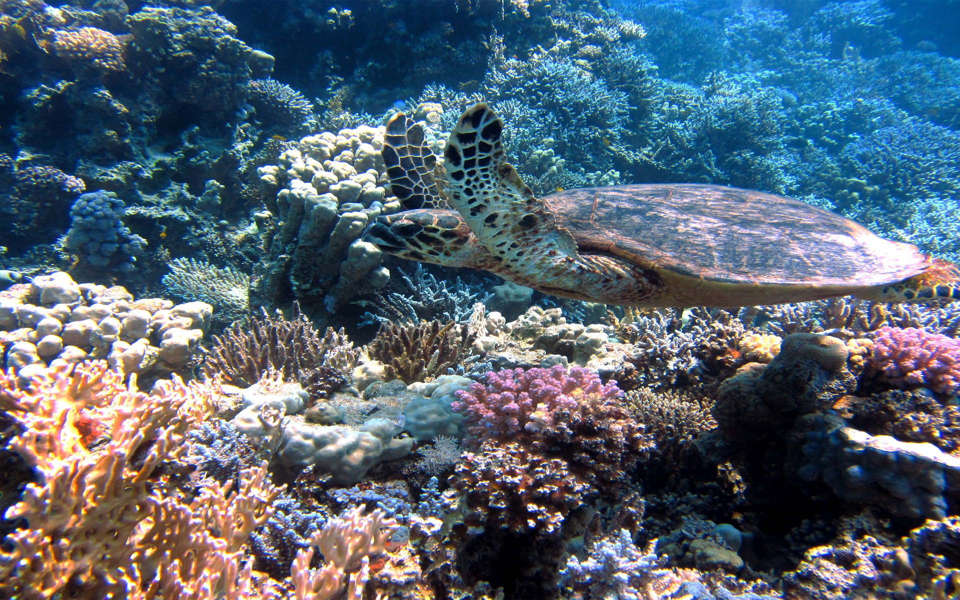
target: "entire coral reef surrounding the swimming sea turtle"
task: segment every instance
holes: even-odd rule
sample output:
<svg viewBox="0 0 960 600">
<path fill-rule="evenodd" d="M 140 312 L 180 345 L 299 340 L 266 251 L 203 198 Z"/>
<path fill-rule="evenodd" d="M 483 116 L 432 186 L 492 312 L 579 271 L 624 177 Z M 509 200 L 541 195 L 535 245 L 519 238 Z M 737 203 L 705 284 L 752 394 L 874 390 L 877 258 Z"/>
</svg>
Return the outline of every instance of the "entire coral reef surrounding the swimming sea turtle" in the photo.
<svg viewBox="0 0 960 600">
<path fill-rule="evenodd" d="M 538 196 L 956 261 L 941 5 L 138 4 L 0 0 L 0 598 L 960 597 L 960 302 L 623 310 L 361 239 L 368 111 L 441 156 L 487 101 Z"/>
</svg>

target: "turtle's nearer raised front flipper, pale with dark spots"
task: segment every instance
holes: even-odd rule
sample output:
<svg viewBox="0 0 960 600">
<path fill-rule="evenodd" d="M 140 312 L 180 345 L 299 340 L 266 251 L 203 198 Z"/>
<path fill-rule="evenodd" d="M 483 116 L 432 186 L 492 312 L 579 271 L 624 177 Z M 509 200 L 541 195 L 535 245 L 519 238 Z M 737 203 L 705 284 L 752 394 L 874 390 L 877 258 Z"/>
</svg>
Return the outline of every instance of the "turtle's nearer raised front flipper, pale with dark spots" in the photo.
<svg viewBox="0 0 960 600">
<path fill-rule="evenodd" d="M 540 279 L 544 269 L 568 269 L 579 259 L 576 242 L 506 162 L 502 132 L 503 121 L 486 104 L 464 112 L 444 150 L 447 200 L 493 258 L 517 275 Z"/>
</svg>

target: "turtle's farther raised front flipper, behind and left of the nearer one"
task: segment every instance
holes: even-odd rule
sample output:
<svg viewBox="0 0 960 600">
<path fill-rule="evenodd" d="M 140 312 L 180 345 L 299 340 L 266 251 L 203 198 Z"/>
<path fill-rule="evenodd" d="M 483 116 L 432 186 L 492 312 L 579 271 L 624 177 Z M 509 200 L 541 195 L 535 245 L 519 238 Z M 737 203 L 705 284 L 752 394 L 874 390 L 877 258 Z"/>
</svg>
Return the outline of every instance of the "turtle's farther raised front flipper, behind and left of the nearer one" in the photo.
<svg viewBox="0 0 960 600">
<path fill-rule="evenodd" d="M 450 207 L 434 175 L 443 167 L 424 142 L 420 123 L 402 112 L 396 113 L 387 123 L 381 156 L 390 178 L 390 191 L 403 210 Z"/>
</svg>

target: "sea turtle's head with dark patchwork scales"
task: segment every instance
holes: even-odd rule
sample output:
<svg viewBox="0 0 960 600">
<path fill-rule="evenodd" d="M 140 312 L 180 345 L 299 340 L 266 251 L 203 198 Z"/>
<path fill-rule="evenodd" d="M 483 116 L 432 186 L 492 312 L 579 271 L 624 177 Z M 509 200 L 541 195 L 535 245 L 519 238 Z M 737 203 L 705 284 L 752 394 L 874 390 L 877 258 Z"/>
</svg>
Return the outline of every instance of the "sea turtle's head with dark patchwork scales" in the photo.
<svg viewBox="0 0 960 600">
<path fill-rule="evenodd" d="M 467 267 L 474 238 L 455 210 L 417 209 L 381 215 L 363 232 L 380 250 L 446 267 Z"/>
</svg>

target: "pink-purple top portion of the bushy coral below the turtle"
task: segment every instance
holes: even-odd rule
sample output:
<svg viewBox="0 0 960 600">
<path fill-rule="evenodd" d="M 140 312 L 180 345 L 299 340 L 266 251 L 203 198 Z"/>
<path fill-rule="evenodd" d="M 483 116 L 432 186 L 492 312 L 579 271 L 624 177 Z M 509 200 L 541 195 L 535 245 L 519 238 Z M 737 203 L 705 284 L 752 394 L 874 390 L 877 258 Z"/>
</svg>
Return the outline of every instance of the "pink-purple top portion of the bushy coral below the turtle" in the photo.
<svg viewBox="0 0 960 600">
<path fill-rule="evenodd" d="M 615 383 L 604 385 L 595 372 L 563 366 L 487 372 L 487 385 L 473 383 L 456 393 L 453 410 L 464 415 L 466 431 L 482 440 L 536 433 L 556 418 L 623 396 Z"/>
</svg>

